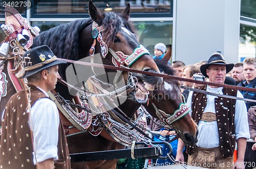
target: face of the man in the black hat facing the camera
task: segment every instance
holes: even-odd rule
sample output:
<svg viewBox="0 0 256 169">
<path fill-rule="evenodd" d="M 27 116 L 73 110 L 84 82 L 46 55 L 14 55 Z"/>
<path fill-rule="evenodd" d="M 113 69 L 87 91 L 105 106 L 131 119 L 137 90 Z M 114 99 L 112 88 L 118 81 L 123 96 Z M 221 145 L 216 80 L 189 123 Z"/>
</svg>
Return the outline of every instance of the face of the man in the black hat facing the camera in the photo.
<svg viewBox="0 0 256 169">
<path fill-rule="evenodd" d="M 224 84 L 226 78 L 226 65 L 210 65 L 206 69 L 206 74 L 209 76 L 209 82 Z M 214 87 L 213 88 L 218 88 Z"/>
</svg>

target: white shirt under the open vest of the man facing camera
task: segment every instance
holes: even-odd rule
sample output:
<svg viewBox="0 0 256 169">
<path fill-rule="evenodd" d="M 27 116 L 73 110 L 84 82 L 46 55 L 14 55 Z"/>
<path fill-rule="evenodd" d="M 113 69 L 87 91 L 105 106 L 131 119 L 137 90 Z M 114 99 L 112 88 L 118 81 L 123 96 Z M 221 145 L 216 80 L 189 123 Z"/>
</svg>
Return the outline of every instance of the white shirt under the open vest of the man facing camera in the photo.
<svg viewBox="0 0 256 169">
<path fill-rule="evenodd" d="M 206 91 L 223 94 L 223 88 L 211 88 L 207 86 Z M 187 98 L 187 105 L 191 107 L 191 101 L 193 97 L 193 92 L 190 92 Z M 217 96 L 206 95 L 207 104 L 204 108 L 204 112 L 213 112 L 215 111 L 215 98 Z M 238 91 L 237 97 L 243 98 L 243 95 Z M 191 115 L 191 111 L 190 111 Z M 245 102 L 243 100 L 236 100 L 236 108 L 234 112 L 234 126 L 236 129 L 236 139 L 238 138 L 250 138 L 249 125 L 247 120 L 247 109 Z M 217 121 L 205 122 L 200 120 L 198 123 L 198 147 L 202 148 L 216 148 L 219 147 L 219 133 Z"/>
</svg>

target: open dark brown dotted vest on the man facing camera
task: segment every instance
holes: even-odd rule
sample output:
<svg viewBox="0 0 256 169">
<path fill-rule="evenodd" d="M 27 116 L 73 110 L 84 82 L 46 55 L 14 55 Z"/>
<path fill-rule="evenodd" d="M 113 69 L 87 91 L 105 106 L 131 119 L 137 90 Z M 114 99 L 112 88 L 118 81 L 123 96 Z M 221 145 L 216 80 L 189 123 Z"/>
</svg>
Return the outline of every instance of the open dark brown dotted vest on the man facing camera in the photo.
<svg viewBox="0 0 256 169">
<path fill-rule="evenodd" d="M 206 85 L 198 87 L 206 91 Z M 237 96 L 237 90 L 223 88 L 223 95 Z M 191 102 L 191 117 L 198 124 L 207 104 L 206 94 L 194 92 Z M 233 155 L 236 145 L 236 130 L 234 126 L 234 111 L 236 100 L 224 97 L 215 99 L 215 111 L 219 132 L 220 152 L 224 157 Z M 194 153 L 194 147 L 187 146 L 186 153 Z"/>
</svg>

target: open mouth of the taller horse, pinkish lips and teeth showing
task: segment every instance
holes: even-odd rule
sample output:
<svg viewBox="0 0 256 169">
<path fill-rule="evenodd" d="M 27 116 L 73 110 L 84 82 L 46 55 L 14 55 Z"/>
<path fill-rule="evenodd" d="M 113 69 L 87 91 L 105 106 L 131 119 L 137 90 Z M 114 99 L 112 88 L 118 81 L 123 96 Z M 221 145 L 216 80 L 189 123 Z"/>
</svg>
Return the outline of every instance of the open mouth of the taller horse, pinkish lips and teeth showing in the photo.
<svg viewBox="0 0 256 169">
<path fill-rule="evenodd" d="M 138 81 L 136 88 L 134 88 L 134 101 L 138 103 L 146 103 L 149 91 L 154 90 L 154 85 L 144 82 Z"/>
</svg>

